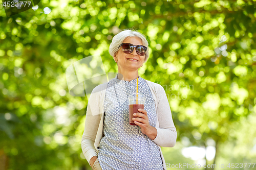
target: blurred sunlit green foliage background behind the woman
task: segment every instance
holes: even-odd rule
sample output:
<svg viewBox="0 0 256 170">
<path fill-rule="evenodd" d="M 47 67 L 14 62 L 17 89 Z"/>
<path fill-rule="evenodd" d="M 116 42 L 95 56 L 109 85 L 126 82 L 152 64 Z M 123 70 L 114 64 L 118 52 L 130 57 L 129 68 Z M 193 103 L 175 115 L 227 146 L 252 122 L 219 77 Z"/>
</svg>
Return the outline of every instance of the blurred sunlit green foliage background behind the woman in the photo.
<svg viewBox="0 0 256 170">
<path fill-rule="evenodd" d="M 117 72 L 109 45 L 127 28 L 146 36 L 150 58 L 139 75 L 164 87 L 172 110 L 178 137 L 162 148 L 165 161 L 255 162 L 255 7 L 41 0 L 6 17 L 0 4 L 0 169 L 91 169 L 81 150 L 88 99 L 70 95 L 65 71 L 100 54 L 105 71 Z"/>
</svg>

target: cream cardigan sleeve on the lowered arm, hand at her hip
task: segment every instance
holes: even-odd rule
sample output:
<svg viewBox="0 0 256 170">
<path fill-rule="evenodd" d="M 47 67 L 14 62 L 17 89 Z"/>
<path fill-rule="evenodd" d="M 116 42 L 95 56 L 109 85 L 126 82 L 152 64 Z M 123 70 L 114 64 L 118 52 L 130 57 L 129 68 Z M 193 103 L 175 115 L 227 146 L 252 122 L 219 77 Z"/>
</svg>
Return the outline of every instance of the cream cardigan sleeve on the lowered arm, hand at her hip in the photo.
<svg viewBox="0 0 256 170">
<path fill-rule="evenodd" d="M 89 164 L 91 158 L 97 156 L 94 142 L 100 123 L 99 107 L 99 91 L 93 89 L 87 105 L 86 123 L 81 139 L 82 152 Z"/>
</svg>

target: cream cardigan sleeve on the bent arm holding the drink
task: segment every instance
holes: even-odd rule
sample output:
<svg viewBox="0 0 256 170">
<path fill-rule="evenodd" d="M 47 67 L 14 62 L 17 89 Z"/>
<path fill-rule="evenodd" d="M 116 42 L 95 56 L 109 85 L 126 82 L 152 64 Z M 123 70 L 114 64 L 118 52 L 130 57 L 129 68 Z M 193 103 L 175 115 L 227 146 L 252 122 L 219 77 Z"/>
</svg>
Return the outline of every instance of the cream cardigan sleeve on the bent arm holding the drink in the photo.
<svg viewBox="0 0 256 170">
<path fill-rule="evenodd" d="M 153 141 L 156 144 L 160 145 L 160 147 L 174 147 L 174 145 L 176 144 L 177 132 L 174 126 L 169 102 L 162 86 L 159 87 L 157 93 L 159 128 L 156 128 L 157 136 Z"/>
</svg>

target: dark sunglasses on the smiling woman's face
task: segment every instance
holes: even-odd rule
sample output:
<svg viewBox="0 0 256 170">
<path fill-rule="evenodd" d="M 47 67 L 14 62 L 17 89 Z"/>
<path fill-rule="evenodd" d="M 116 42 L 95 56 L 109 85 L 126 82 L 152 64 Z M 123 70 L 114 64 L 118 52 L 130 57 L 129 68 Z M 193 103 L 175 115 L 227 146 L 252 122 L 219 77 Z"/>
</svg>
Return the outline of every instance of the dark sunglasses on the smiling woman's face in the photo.
<svg viewBox="0 0 256 170">
<path fill-rule="evenodd" d="M 137 52 L 138 55 L 144 56 L 146 54 L 147 47 L 145 47 L 144 45 L 134 45 L 134 44 L 130 44 L 130 43 L 121 43 L 121 45 L 119 45 L 118 48 L 120 46 L 122 46 L 122 51 L 125 54 L 132 53 L 134 47 L 135 47 L 136 52 Z"/>
</svg>

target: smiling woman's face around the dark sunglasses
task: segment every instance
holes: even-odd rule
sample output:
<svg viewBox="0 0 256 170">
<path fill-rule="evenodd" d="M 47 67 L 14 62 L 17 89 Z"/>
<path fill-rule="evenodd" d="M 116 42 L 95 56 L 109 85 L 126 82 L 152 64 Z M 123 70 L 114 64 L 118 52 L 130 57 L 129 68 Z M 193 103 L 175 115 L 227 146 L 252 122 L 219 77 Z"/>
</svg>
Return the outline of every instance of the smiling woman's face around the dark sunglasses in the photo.
<svg viewBox="0 0 256 170">
<path fill-rule="evenodd" d="M 143 45 L 142 40 L 139 37 L 128 37 L 124 39 L 123 43 L 131 43 L 134 45 Z M 117 61 L 118 64 L 118 69 L 128 69 L 128 70 L 137 70 L 139 69 L 145 60 L 145 55 L 140 56 L 137 54 L 136 49 L 134 47 L 134 50 L 130 54 L 125 54 L 122 51 L 122 46 L 119 47 L 119 50 L 116 54 L 115 60 Z M 134 60 L 129 60 L 129 59 L 135 59 Z"/>
</svg>

